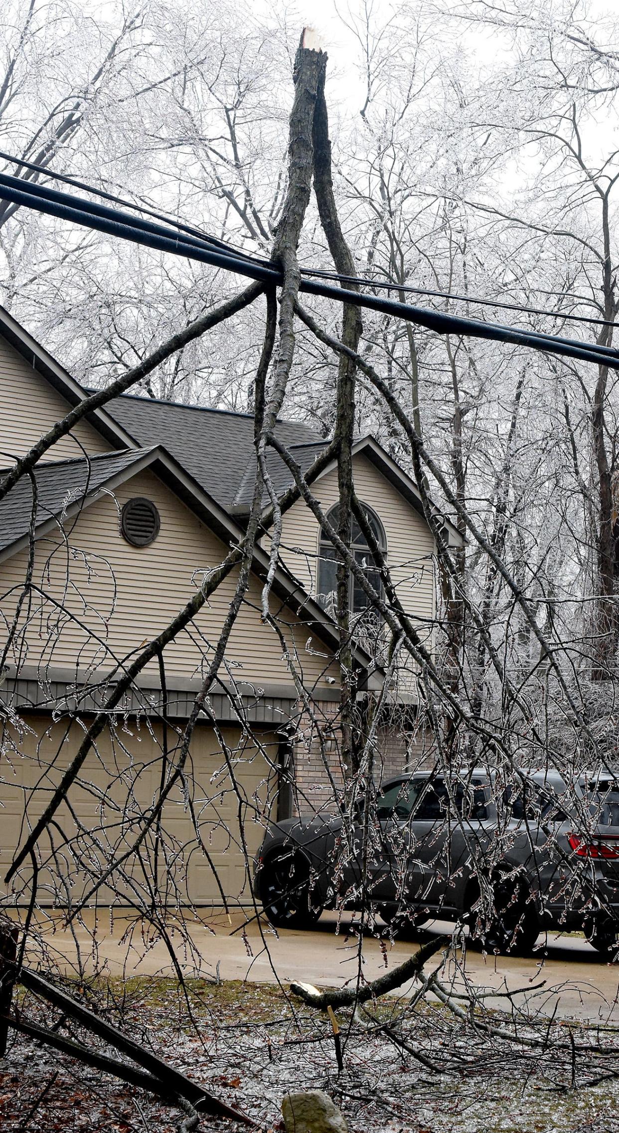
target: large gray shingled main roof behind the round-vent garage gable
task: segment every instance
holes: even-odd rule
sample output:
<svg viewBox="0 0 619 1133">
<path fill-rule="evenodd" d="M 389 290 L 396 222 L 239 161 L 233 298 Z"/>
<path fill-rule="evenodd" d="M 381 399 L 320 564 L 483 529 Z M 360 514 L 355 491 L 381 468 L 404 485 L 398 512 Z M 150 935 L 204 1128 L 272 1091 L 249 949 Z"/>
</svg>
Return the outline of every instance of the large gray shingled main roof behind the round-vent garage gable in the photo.
<svg viewBox="0 0 619 1133">
<path fill-rule="evenodd" d="M 252 465 L 252 416 L 130 394 L 115 398 L 105 408 L 137 444 L 144 448 L 164 445 L 223 508 L 237 502 L 237 493 Z M 278 421 L 275 433 L 286 445 L 324 444 L 317 433 L 297 421 Z M 279 458 L 278 462 L 281 463 Z M 249 499 L 253 469 L 251 477 Z M 290 476 L 286 472 L 285 485 L 289 483 Z"/>
</svg>

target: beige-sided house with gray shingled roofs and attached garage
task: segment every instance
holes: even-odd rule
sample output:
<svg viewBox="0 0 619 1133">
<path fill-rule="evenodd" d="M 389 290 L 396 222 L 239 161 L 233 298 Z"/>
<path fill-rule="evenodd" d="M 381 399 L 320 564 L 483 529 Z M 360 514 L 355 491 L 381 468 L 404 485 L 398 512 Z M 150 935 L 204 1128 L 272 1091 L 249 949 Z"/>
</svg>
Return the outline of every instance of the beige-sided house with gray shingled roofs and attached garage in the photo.
<svg viewBox="0 0 619 1133">
<path fill-rule="evenodd" d="M 78 383 L 0 309 L 5 468 L 83 397 Z M 302 423 L 281 420 L 277 432 L 304 468 L 325 444 Z M 269 460 L 278 491 L 285 489 L 285 466 L 274 453 Z M 415 485 L 372 437 L 356 442 L 354 470 L 401 602 L 430 641 L 435 547 Z M 79 421 L 45 453 L 34 477 L 24 477 L 0 502 L 2 876 L 119 674 L 243 538 L 253 483 L 252 417 L 124 395 Z M 314 492 L 327 511 L 337 506 L 334 467 L 323 471 Z M 446 530 L 458 540 L 447 521 Z M 355 554 L 365 560 L 363 540 Z M 292 777 L 298 806 L 332 796 L 339 774 L 338 638 L 328 602 L 333 554 L 303 501 L 285 516 L 272 624 L 261 617 L 268 562 L 268 546 L 256 547 L 186 774 L 166 800 L 161 828 L 153 827 L 122 875 L 129 902 L 145 885 L 175 905 L 251 902 L 248 861 L 266 818 L 292 806 Z M 110 712 L 68 801 L 40 841 L 42 903 L 87 896 L 93 878 L 139 835 L 173 766 L 235 578 L 226 579 Z M 354 587 L 350 597 L 358 604 Z M 372 697 L 382 687 L 380 667 L 361 645 L 354 663 L 359 688 Z M 414 680 L 398 698 L 407 704 L 400 726 L 380 725 L 388 770 L 399 769 L 422 742 Z M 28 860 L 11 883 L 16 902 L 27 900 L 31 874 Z M 118 900 L 118 886 L 116 892 Z M 97 901 L 105 896 L 113 900 L 111 889 Z"/>
</svg>

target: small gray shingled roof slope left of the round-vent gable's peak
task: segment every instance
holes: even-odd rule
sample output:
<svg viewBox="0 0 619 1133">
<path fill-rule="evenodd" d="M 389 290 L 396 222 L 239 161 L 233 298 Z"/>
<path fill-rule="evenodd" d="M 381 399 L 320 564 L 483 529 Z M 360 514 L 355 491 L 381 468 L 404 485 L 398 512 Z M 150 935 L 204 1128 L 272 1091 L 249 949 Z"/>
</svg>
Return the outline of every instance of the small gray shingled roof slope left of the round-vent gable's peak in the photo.
<svg viewBox="0 0 619 1133">
<path fill-rule="evenodd" d="M 126 449 L 90 460 L 54 460 L 36 466 L 37 505 L 35 527 L 60 516 L 65 506 L 96 492 L 117 472 L 141 460 L 143 450 Z M 1 478 L 0 472 L 0 478 Z M 33 489 L 29 476 L 23 476 L 0 500 L 0 551 L 27 536 L 32 522 Z"/>
</svg>

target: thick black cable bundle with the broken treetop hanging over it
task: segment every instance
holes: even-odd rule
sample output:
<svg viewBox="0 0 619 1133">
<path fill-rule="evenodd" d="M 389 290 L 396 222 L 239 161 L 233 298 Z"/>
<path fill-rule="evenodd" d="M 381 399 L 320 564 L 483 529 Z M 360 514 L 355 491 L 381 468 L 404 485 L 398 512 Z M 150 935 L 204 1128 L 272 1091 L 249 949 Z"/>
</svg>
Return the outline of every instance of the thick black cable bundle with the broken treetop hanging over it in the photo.
<svg viewBox="0 0 619 1133">
<path fill-rule="evenodd" d="M 209 247 L 196 237 L 189 237 L 171 231 L 169 228 L 130 216 L 119 210 L 82 201 L 66 193 L 58 193 L 43 186 L 33 185 L 7 173 L 0 174 L 0 198 L 15 204 L 35 208 L 48 215 L 83 224 L 87 228 L 105 232 L 110 236 L 130 240 L 145 247 L 169 252 L 188 259 L 223 267 L 249 279 L 264 282 L 265 287 L 277 287 L 282 283 L 281 271 L 275 266 L 266 266 L 228 250 Z M 349 303 L 370 310 L 378 310 L 425 326 L 439 334 L 457 334 L 468 338 L 480 338 L 515 346 L 531 347 L 549 353 L 557 353 L 583 361 L 607 365 L 619 369 L 619 351 L 596 343 L 583 343 L 559 335 L 543 334 L 533 331 L 520 331 L 498 323 L 485 323 L 478 320 L 464 318 L 457 315 L 446 315 L 424 307 L 413 307 L 392 299 L 381 299 L 378 296 L 349 291 L 332 287 L 329 283 L 302 279 L 299 290 L 307 295 L 336 299 L 338 303 Z"/>
</svg>

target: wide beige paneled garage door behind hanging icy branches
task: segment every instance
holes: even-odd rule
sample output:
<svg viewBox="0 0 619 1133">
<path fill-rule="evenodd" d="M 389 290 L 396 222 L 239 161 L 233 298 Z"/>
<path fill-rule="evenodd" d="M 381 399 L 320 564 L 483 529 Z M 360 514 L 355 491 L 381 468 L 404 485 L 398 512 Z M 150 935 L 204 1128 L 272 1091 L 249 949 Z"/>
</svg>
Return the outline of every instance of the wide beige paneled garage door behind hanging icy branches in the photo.
<svg viewBox="0 0 619 1133">
<path fill-rule="evenodd" d="M 22 735 L 5 734 L 0 767 L 0 866 L 6 874 L 17 845 L 44 810 L 78 750 L 75 722 L 25 717 Z M 116 898 L 143 904 L 154 892 L 168 905 L 252 903 L 249 871 L 274 802 L 278 739 L 263 732 L 249 742 L 240 729 L 196 727 L 185 773 L 160 819 L 146 833 L 161 784 L 178 761 L 178 735 L 150 721 L 119 717 L 90 752 L 79 782 L 40 841 L 39 902 L 84 898 L 113 870 L 91 903 Z M 125 857 L 126 855 L 126 857 Z M 125 860 L 121 859 L 125 857 Z M 121 861 L 120 864 L 119 861 Z M 15 881 L 29 896 L 32 866 Z M 111 883 L 111 877 L 110 877 Z"/>
</svg>

